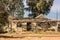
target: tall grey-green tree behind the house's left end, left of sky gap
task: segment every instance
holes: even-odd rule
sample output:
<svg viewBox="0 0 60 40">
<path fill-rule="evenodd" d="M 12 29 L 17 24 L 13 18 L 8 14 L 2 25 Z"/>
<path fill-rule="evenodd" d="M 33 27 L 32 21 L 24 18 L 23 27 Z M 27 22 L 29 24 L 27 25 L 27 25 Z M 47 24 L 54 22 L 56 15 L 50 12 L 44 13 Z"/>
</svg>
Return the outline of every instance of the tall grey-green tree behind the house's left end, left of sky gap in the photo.
<svg viewBox="0 0 60 40">
<path fill-rule="evenodd" d="M 4 0 L 7 4 L 6 11 L 16 18 L 23 18 L 24 5 L 23 0 Z"/>
</svg>

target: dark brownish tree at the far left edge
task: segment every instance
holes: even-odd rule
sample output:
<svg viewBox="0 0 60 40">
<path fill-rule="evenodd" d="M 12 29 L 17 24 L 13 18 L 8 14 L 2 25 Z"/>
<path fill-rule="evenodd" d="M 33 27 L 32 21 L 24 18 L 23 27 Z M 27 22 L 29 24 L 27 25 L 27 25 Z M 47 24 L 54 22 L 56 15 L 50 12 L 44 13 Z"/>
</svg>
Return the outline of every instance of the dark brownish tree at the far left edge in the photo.
<svg viewBox="0 0 60 40">
<path fill-rule="evenodd" d="M 0 0 L 0 24 L 4 26 L 8 22 L 8 13 L 5 11 L 6 4 Z"/>
</svg>

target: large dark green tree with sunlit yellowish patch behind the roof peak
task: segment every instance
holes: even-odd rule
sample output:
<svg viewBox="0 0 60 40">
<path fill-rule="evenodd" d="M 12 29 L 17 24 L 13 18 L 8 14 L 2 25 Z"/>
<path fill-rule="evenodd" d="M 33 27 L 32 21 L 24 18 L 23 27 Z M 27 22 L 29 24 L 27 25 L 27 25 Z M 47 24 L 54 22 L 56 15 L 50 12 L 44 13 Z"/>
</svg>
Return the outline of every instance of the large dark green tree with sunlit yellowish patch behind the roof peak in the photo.
<svg viewBox="0 0 60 40">
<path fill-rule="evenodd" d="M 40 14 L 47 15 L 53 5 L 54 0 L 27 0 L 27 9 L 31 10 L 30 17 L 35 18 Z"/>
</svg>

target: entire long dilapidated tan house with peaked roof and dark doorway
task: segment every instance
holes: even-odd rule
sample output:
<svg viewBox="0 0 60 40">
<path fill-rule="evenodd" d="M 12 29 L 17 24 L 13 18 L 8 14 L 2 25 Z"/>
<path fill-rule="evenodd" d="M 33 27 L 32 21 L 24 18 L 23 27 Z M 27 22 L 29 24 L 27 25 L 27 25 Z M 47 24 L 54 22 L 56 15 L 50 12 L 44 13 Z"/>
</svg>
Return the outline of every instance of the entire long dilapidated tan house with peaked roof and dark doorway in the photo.
<svg viewBox="0 0 60 40">
<path fill-rule="evenodd" d="M 43 14 L 36 18 L 24 18 L 15 20 L 11 15 L 8 17 L 8 31 L 14 29 L 15 31 L 60 31 L 59 20 L 48 19 Z"/>
</svg>

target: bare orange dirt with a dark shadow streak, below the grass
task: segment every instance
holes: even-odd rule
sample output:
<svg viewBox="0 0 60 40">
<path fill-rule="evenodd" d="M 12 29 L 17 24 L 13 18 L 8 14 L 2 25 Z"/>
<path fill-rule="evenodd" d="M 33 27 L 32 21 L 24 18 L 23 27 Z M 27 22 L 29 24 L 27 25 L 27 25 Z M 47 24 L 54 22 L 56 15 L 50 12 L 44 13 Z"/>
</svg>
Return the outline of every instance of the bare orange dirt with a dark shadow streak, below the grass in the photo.
<svg viewBox="0 0 60 40">
<path fill-rule="evenodd" d="M 60 34 L 0 34 L 0 40 L 60 40 Z"/>
</svg>

